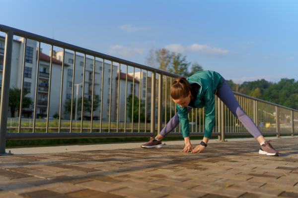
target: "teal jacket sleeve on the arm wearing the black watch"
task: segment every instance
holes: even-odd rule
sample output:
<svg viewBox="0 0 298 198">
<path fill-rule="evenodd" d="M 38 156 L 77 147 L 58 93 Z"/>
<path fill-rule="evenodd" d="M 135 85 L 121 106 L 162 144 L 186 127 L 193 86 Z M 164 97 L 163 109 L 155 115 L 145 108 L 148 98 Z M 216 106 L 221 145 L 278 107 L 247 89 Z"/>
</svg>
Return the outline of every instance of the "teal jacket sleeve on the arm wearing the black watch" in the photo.
<svg viewBox="0 0 298 198">
<path fill-rule="evenodd" d="M 215 98 L 212 90 L 208 88 L 204 96 L 206 118 L 205 118 L 205 131 L 204 137 L 211 138 L 215 124 Z"/>
</svg>

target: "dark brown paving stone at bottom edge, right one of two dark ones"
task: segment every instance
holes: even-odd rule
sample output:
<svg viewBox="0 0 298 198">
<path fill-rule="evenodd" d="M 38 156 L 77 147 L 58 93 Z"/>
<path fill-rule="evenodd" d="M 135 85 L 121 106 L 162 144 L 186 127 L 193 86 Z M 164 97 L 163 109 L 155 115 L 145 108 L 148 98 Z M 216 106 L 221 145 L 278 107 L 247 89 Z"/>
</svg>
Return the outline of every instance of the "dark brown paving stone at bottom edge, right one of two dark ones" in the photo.
<svg viewBox="0 0 298 198">
<path fill-rule="evenodd" d="M 74 198 L 124 198 L 123 196 L 90 189 L 69 193 L 68 195 Z"/>
</svg>

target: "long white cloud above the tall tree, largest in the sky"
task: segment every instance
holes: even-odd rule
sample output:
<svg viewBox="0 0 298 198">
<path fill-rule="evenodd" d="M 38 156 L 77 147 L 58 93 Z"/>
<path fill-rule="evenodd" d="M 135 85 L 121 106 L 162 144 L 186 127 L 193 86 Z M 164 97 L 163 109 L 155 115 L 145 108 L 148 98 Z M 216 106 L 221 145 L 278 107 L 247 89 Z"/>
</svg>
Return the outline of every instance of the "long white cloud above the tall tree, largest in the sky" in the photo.
<svg viewBox="0 0 298 198">
<path fill-rule="evenodd" d="M 200 45 L 200 44 L 192 44 L 188 47 L 183 47 L 180 44 L 170 44 L 170 45 L 166 45 L 164 48 L 170 51 L 175 51 L 177 53 L 200 52 L 207 56 L 223 55 L 230 52 L 227 49 L 220 49 L 215 47 L 212 48 L 208 45 Z"/>
</svg>

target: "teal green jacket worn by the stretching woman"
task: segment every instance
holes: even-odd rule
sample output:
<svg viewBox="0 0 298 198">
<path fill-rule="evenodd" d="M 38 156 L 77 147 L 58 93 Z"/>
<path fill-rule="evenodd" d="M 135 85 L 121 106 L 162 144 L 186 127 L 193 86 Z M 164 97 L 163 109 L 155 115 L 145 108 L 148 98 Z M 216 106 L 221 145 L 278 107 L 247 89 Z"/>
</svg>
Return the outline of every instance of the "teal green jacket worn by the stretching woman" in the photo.
<svg viewBox="0 0 298 198">
<path fill-rule="evenodd" d="M 197 99 L 194 101 L 197 108 L 206 108 L 204 137 L 211 138 L 215 123 L 215 93 L 223 85 L 222 76 L 215 71 L 199 71 L 187 78 L 189 84 L 197 83 L 201 86 Z M 189 137 L 189 120 L 187 107 L 178 108 L 178 115 L 183 138 Z"/>
</svg>

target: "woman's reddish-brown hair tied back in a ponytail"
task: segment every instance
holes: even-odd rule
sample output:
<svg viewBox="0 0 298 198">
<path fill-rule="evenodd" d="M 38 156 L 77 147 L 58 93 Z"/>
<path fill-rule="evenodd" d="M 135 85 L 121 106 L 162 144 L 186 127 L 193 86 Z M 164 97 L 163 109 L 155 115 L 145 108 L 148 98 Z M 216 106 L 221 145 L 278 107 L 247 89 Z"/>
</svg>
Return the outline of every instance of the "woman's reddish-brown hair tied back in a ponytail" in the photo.
<svg viewBox="0 0 298 198">
<path fill-rule="evenodd" d="M 176 78 L 173 82 L 173 86 L 171 87 L 171 98 L 172 99 L 180 99 L 186 98 L 189 96 L 189 91 L 191 86 L 189 82 L 184 77 Z"/>
</svg>

